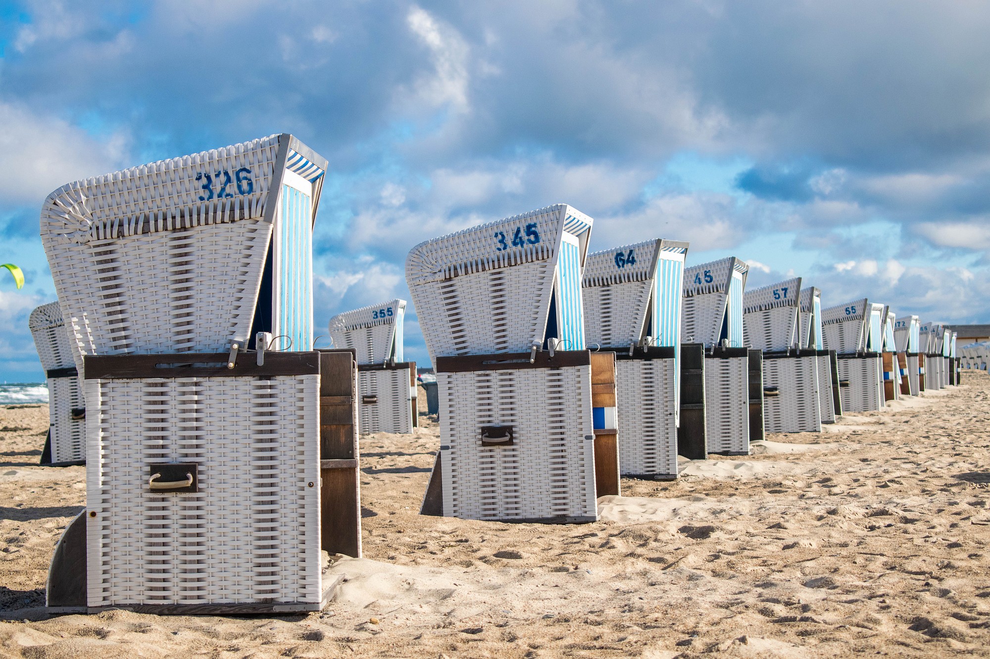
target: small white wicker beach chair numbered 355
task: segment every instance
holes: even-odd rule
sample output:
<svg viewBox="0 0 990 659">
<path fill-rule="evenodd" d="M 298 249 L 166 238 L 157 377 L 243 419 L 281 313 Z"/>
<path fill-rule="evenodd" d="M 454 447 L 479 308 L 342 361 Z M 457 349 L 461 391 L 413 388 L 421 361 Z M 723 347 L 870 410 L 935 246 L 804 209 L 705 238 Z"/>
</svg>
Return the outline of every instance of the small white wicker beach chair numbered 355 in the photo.
<svg viewBox="0 0 990 659">
<path fill-rule="evenodd" d="M 357 355 L 361 434 L 412 432 L 419 425 L 416 362 L 403 360 L 405 300 L 389 300 L 330 319 L 334 345 Z"/>
</svg>

